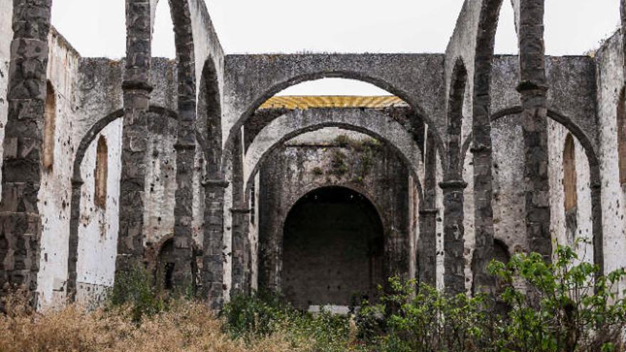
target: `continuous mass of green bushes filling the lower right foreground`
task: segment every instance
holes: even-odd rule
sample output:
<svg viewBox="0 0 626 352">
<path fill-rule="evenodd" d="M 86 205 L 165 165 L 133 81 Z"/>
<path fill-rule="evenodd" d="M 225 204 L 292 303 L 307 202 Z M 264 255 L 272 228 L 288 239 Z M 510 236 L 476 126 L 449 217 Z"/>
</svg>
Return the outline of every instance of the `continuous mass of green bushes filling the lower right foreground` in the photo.
<svg viewBox="0 0 626 352">
<path fill-rule="evenodd" d="M 541 255 L 493 261 L 498 294 L 449 296 L 398 277 L 381 303 L 364 304 L 359 338 L 377 352 L 613 352 L 625 351 L 626 300 L 617 286 L 624 270 L 600 276 L 559 246 L 553 263 Z M 497 309 L 505 309 L 501 311 Z"/>
</svg>

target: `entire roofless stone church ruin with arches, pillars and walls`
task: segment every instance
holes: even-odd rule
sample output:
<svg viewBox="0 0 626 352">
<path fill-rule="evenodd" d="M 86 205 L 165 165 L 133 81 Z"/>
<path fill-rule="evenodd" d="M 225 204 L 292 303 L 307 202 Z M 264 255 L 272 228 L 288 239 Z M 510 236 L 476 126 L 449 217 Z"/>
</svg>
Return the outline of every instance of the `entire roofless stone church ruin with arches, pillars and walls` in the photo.
<svg viewBox="0 0 626 352">
<path fill-rule="evenodd" d="M 225 55 L 203 0 L 126 0 L 127 57 L 83 58 L 51 0 L 0 0 L 0 296 L 98 304 L 144 267 L 214 308 L 349 306 L 400 275 L 493 287 L 492 258 L 626 266 L 626 36 L 546 56 L 543 1 L 466 0 L 445 53 Z M 626 1 L 621 1 L 626 28 Z M 618 11 L 618 9 L 615 9 Z M 275 96 L 320 78 L 379 97 Z M 623 287 L 622 287 L 623 289 Z"/>
</svg>

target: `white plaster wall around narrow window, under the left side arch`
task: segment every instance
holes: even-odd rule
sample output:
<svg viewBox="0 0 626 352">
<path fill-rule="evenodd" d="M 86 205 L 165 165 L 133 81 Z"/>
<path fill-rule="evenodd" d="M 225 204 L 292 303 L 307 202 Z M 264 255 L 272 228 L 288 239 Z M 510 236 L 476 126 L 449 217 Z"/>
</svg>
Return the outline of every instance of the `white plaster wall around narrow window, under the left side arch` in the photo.
<svg viewBox="0 0 626 352">
<path fill-rule="evenodd" d="M 77 302 L 94 306 L 105 298 L 115 278 L 117 234 L 120 226 L 120 175 L 122 171 L 122 125 L 117 119 L 95 137 L 80 166 L 83 186 L 80 189 L 80 223 L 78 227 Z M 107 205 L 95 206 L 96 149 L 100 136 L 108 148 Z"/>
</svg>

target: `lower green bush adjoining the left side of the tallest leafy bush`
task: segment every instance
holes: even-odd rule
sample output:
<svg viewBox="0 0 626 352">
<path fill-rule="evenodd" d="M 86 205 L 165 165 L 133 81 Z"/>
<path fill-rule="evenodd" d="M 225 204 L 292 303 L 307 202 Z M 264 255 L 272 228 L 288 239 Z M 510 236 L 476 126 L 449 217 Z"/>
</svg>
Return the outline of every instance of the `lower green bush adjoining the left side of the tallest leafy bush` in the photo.
<svg viewBox="0 0 626 352">
<path fill-rule="evenodd" d="M 433 287 L 398 277 L 381 303 L 364 306 L 357 321 L 374 351 L 484 351 L 490 331 L 483 294 L 450 297 Z M 372 335 L 373 334 L 373 335 Z"/>
</svg>

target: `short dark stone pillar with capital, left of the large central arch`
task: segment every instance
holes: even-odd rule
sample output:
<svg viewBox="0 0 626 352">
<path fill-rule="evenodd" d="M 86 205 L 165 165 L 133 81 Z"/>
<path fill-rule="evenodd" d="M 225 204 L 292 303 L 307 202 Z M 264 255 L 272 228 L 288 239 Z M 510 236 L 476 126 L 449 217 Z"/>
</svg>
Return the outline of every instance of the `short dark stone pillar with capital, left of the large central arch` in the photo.
<svg viewBox="0 0 626 352">
<path fill-rule="evenodd" d="M 202 264 L 202 296 L 212 309 L 223 305 L 223 201 L 224 189 L 228 182 L 209 179 L 203 182 L 204 198 L 204 240 Z"/>
</svg>

